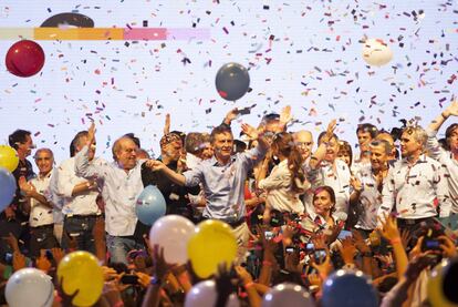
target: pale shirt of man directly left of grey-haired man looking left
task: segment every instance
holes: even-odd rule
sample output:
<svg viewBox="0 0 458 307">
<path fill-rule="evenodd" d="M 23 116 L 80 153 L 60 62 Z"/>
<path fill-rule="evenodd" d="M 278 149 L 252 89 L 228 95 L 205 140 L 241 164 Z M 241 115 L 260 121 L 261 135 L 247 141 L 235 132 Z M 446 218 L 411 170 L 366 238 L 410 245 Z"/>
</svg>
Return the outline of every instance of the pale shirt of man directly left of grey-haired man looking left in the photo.
<svg viewBox="0 0 458 307">
<path fill-rule="evenodd" d="M 377 227 L 377 212 L 382 205 L 382 193 L 377 188 L 371 164 L 360 167 L 355 176 L 361 181 L 362 192 L 358 199 L 358 218 L 355 227 L 372 231 Z"/>
</svg>

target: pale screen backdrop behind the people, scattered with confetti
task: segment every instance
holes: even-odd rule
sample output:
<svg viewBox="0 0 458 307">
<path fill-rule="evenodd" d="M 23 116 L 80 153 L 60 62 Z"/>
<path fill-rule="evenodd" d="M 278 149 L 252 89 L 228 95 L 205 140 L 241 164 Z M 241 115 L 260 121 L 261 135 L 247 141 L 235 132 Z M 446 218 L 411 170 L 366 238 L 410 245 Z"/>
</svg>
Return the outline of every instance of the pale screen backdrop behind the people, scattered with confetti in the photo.
<svg viewBox="0 0 458 307">
<path fill-rule="evenodd" d="M 218 3 L 220 2 L 220 3 Z M 100 28 L 207 29 L 209 39 L 166 41 L 38 41 L 46 60 L 22 79 L 0 65 L 0 140 L 31 130 L 38 146 L 69 156 L 73 135 L 94 119 L 98 153 L 110 158 L 119 135 L 134 132 L 157 153 L 164 115 L 171 130 L 209 131 L 233 106 L 257 104 L 242 120 L 291 104 L 315 136 L 332 117 L 355 143 L 355 127 L 418 116 L 428 123 L 458 81 L 456 1 L 58 1 L 2 0 L 1 28 L 35 28 L 61 12 L 80 12 Z M 195 27 L 195 28 L 194 28 Z M 362 40 L 388 42 L 393 61 L 366 66 Z M 15 40 L 0 39 L 0 59 Z M 190 63 L 183 63 L 183 59 Z M 215 75 L 227 62 L 250 68 L 252 91 L 226 102 Z M 396 116 L 394 116 L 396 115 Z M 239 124 L 235 124 L 236 133 Z"/>
</svg>

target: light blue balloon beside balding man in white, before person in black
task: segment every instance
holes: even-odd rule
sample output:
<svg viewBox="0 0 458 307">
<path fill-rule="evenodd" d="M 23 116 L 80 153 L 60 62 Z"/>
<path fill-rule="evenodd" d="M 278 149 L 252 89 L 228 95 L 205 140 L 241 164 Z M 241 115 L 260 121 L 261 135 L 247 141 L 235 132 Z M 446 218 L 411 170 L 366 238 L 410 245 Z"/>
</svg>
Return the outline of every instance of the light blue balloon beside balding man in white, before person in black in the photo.
<svg viewBox="0 0 458 307">
<path fill-rule="evenodd" d="M 159 188 L 148 185 L 138 195 L 135 213 L 138 219 L 145 225 L 153 225 L 157 218 L 164 216 L 166 203 Z"/>
</svg>

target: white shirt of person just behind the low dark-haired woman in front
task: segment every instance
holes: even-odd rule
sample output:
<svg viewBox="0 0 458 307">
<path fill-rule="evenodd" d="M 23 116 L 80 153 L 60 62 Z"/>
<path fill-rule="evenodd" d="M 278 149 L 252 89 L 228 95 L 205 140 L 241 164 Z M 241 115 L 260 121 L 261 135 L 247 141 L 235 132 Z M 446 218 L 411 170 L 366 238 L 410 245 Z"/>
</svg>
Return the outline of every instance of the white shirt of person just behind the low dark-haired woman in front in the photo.
<svg viewBox="0 0 458 307">
<path fill-rule="evenodd" d="M 314 185 L 329 185 L 334 190 L 335 194 L 335 212 L 348 213 L 348 202 L 351 185 L 351 173 L 348 165 L 342 160 L 335 160 L 335 172 L 333 165 L 323 161 L 321 166 L 316 170 L 319 172 L 309 172 L 309 180 Z M 318 178 L 315 178 L 318 176 Z"/>
</svg>

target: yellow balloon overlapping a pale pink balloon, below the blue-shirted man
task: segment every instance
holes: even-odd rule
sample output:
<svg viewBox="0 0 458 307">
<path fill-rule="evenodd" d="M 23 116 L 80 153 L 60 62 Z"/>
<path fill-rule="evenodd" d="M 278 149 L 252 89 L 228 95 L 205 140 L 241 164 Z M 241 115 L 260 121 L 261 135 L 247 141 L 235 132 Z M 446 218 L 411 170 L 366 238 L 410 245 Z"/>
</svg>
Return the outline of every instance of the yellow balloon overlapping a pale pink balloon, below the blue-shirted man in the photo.
<svg viewBox="0 0 458 307">
<path fill-rule="evenodd" d="M 229 267 L 237 256 L 237 239 L 232 228 L 221 221 L 204 221 L 197 225 L 196 233 L 189 239 L 188 256 L 194 270 L 201 278 L 215 274 L 221 263 Z"/>
</svg>

